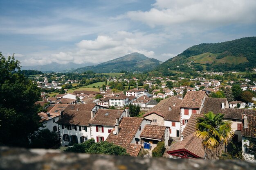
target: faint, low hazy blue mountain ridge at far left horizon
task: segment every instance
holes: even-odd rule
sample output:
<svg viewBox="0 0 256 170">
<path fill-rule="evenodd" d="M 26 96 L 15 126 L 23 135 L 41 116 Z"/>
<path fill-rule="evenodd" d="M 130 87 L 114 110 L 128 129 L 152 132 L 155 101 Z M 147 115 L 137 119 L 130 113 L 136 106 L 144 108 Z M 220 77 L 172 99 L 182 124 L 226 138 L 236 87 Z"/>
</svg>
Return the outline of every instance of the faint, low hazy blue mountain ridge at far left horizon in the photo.
<svg viewBox="0 0 256 170">
<path fill-rule="evenodd" d="M 67 64 L 51 63 L 47 65 L 22 66 L 21 70 L 38 70 L 42 72 L 72 72 L 76 68 L 81 68 L 92 63 L 76 64 L 69 62 Z"/>
</svg>

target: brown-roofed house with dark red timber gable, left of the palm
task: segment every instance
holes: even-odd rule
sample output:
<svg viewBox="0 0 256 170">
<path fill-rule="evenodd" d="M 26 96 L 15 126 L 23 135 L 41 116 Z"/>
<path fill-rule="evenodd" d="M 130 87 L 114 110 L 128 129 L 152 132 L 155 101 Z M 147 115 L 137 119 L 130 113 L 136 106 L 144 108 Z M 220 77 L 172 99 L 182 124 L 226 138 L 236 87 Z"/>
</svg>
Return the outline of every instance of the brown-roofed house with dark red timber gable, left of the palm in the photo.
<svg viewBox="0 0 256 170">
<path fill-rule="evenodd" d="M 190 121 L 185 127 L 180 141 L 175 142 L 167 153 L 170 158 L 174 159 L 204 159 L 205 153 L 202 147 L 202 139 L 195 136 L 196 118 L 202 117 L 203 114 L 192 114 Z"/>
</svg>

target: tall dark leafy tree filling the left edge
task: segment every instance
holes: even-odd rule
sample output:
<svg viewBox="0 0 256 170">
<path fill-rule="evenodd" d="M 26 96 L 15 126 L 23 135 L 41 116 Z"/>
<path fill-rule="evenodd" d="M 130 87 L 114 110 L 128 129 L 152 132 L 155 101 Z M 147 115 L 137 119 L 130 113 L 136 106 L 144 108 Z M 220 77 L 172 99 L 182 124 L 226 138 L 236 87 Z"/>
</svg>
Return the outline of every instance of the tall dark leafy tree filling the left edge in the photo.
<svg viewBox="0 0 256 170">
<path fill-rule="evenodd" d="M 14 55 L 6 59 L 0 52 L 0 144 L 27 147 L 28 136 L 40 127 L 34 105 L 40 89 L 20 74 L 19 64 Z"/>
</svg>

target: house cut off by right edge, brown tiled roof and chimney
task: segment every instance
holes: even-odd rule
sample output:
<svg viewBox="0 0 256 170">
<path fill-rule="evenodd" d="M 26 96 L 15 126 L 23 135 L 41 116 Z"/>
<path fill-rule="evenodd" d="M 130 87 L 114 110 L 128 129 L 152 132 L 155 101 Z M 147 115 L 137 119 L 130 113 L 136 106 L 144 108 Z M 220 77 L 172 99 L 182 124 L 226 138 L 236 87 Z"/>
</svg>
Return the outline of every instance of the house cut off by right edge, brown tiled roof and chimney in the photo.
<svg viewBox="0 0 256 170">
<path fill-rule="evenodd" d="M 245 160 L 255 161 L 256 156 L 256 115 L 243 115 L 242 154 Z"/>
</svg>

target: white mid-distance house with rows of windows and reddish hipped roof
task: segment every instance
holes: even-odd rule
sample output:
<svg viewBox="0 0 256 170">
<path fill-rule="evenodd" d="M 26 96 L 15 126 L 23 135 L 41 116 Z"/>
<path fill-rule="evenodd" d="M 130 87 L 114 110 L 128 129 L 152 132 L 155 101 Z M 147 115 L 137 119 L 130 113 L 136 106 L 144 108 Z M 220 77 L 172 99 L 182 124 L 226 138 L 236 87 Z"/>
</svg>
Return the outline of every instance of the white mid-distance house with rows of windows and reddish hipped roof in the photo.
<svg viewBox="0 0 256 170">
<path fill-rule="evenodd" d="M 129 104 L 129 97 L 124 94 L 116 94 L 109 98 L 109 106 L 124 107 Z"/>
</svg>

